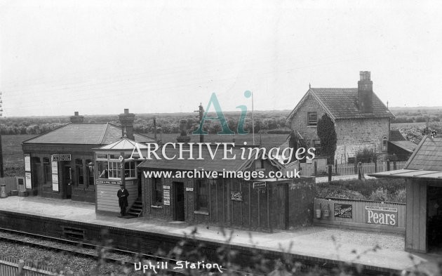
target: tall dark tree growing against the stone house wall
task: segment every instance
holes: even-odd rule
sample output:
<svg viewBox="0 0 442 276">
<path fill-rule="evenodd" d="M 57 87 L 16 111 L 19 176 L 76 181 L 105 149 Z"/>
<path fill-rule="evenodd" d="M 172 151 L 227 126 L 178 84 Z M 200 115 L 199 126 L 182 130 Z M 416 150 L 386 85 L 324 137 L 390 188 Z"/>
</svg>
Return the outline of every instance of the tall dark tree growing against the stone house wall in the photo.
<svg viewBox="0 0 442 276">
<path fill-rule="evenodd" d="M 323 114 L 321 119 L 318 120 L 316 132 L 318 133 L 319 140 L 321 140 L 321 152 L 327 157 L 327 164 L 333 164 L 337 138 L 335 123 L 327 114 Z"/>
</svg>

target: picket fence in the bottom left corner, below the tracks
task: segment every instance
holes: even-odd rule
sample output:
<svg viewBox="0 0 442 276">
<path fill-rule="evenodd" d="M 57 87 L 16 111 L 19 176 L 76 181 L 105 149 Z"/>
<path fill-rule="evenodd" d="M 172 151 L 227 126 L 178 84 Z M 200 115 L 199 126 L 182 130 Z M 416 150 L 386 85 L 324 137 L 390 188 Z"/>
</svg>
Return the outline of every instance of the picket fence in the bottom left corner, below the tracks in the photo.
<svg viewBox="0 0 442 276">
<path fill-rule="evenodd" d="M 0 275 L 1 276 L 63 276 L 51 268 L 40 266 L 33 268 L 24 261 L 17 261 L 13 258 L 0 257 Z"/>
</svg>

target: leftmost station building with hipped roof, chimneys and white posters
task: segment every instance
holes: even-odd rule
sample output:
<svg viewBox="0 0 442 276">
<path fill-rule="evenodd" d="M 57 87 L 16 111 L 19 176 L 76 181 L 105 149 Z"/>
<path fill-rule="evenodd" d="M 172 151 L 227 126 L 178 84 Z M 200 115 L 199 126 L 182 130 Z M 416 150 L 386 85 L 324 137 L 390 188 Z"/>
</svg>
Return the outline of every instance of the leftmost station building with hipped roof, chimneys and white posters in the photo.
<svg viewBox="0 0 442 276">
<path fill-rule="evenodd" d="M 112 144 L 125 133 L 138 143 L 154 141 L 133 132 L 135 114 L 127 109 L 119 114 L 121 126 L 85 123 L 83 119 L 75 112 L 69 124 L 22 143 L 29 195 L 95 202 L 99 170 L 93 149 Z"/>
</svg>

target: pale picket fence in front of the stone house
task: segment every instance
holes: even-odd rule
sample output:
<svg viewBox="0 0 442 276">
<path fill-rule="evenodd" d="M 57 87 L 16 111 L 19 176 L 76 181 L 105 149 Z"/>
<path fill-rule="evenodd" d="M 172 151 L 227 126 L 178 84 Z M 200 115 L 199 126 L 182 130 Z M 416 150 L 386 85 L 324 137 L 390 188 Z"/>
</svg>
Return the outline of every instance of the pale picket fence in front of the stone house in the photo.
<svg viewBox="0 0 442 276">
<path fill-rule="evenodd" d="M 394 171 L 403 169 L 407 162 L 382 161 L 376 163 L 361 163 L 361 173 L 379 173 L 382 171 Z M 316 161 L 307 164 L 300 163 L 300 174 L 302 176 L 326 176 L 328 166 L 325 162 L 316 163 Z M 332 172 L 335 176 L 351 176 L 358 173 L 357 164 L 335 164 L 332 165 Z"/>
</svg>

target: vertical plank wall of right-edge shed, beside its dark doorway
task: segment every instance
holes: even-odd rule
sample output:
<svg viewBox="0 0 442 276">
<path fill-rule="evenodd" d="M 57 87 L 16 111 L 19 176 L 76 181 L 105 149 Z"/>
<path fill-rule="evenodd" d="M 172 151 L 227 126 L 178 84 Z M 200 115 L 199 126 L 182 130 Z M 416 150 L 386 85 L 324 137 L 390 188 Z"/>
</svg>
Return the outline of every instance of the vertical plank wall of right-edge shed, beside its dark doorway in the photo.
<svg viewBox="0 0 442 276">
<path fill-rule="evenodd" d="M 427 251 L 427 182 L 408 180 L 406 250 Z"/>
</svg>

